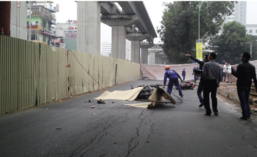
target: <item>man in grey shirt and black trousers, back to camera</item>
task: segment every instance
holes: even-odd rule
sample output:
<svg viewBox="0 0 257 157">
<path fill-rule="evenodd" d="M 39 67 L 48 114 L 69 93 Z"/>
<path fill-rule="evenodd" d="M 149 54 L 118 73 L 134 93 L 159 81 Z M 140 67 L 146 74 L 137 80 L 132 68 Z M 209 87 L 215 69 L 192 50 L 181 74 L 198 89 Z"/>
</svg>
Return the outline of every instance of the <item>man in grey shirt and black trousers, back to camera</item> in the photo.
<svg viewBox="0 0 257 157">
<path fill-rule="evenodd" d="M 212 109 L 215 115 L 218 115 L 217 110 L 217 88 L 219 87 L 219 82 L 222 80 L 221 66 L 219 66 L 214 60 L 216 58 L 216 53 L 212 52 L 208 56 L 207 63 L 203 66 L 203 76 L 205 77 L 204 83 L 204 106 L 206 113 L 204 115 L 211 115 L 210 108 L 210 92 Z"/>
</svg>

